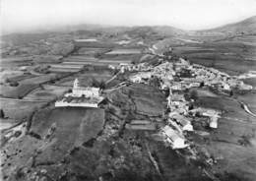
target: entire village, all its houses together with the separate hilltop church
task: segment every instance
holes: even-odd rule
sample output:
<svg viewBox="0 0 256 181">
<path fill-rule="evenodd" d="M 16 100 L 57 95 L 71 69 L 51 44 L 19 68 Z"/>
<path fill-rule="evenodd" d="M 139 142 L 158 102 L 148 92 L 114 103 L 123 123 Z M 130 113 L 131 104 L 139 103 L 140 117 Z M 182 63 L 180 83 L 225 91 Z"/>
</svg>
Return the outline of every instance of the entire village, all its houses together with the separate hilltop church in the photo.
<svg viewBox="0 0 256 181">
<path fill-rule="evenodd" d="M 167 147 L 173 150 L 185 149 L 193 144 L 186 139 L 186 133 L 195 131 L 192 123 L 198 117 L 207 118 L 206 124 L 210 129 L 218 129 L 218 120 L 222 115 L 222 112 L 216 109 L 191 107 L 191 103 L 195 100 L 193 97 L 185 98 L 185 91 L 192 88 L 209 87 L 220 92 L 230 93 L 235 89 L 248 91 L 253 88 L 214 68 L 190 64 L 183 58 L 171 61 L 169 54 L 168 57 L 160 55 L 160 63 L 157 66 L 145 63 L 137 65 L 120 63 L 118 66 L 109 66 L 109 68 L 118 70 L 119 74 L 131 73 L 128 81 L 134 84 L 150 84 L 153 80 L 157 80 L 155 86 L 159 87 L 160 91 L 167 92 L 166 112 L 162 118 L 165 120 L 165 124 L 159 126 L 150 120 L 133 120 L 126 125 L 126 128 L 129 130 L 159 130 L 160 139 Z M 55 102 L 55 106 L 96 108 L 104 99 L 102 91 L 99 88 L 80 87 L 79 80 L 75 79 L 72 92 L 64 94 L 61 100 Z M 157 127 L 159 128 L 157 129 Z"/>
</svg>

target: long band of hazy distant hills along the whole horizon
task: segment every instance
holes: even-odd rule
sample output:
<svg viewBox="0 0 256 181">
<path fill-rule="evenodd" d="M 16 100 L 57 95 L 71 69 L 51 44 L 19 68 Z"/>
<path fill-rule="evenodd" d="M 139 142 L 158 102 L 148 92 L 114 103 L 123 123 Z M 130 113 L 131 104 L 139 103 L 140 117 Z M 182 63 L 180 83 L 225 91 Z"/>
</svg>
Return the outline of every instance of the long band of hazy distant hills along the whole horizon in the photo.
<svg viewBox="0 0 256 181">
<path fill-rule="evenodd" d="M 45 39 L 50 36 L 58 36 L 61 33 L 68 33 L 70 36 L 77 35 L 84 38 L 101 37 L 115 40 L 141 39 L 150 44 L 151 42 L 156 43 L 166 38 L 168 38 L 168 41 L 170 40 L 170 43 L 174 44 L 188 43 L 188 41 L 192 42 L 193 40 L 215 41 L 239 35 L 256 35 L 256 16 L 211 30 L 180 30 L 170 26 L 115 27 L 82 24 L 57 28 L 50 27 L 46 30 L 31 30 L 30 32 L 24 33 L 12 33 L 2 35 L 1 38 L 3 41 L 11 41 L 13 44 L 19 45 Z"/>
</svg>

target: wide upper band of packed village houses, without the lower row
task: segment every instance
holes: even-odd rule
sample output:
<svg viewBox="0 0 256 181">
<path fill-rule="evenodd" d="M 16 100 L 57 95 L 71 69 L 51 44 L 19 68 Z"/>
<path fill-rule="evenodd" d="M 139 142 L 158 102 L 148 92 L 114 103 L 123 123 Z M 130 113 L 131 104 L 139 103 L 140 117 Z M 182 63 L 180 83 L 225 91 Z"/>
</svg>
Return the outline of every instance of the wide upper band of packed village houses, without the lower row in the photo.
<svg viewBox="0 0 256 181">
<path fill-rule="evenodd" d="M 220 72 L 214 68 L 207 68 L 198 64 L 189 64 L 183 58 L 175 63 L 164 62 L 156 67 L 148 67 L 148 69 L 140 69 L 140 64 L 137 65 L 140 71 L 130 77 L 133 83 L 147 83 L 149 79 L 157 77 L 160 79 L 160 89 L 171 89 L 176 91 L 184 91 L 190 88 L 205 86 L 214 87 L 220 91 L 252 90 L 253 87 L 244 84 L 236 77 L 230 77 L 227 74 Z M 182 72 L 186 72 L 186 76 L 182 76 Z M 178 81 L 173 81 L 174 78 Z"/>
</svg>

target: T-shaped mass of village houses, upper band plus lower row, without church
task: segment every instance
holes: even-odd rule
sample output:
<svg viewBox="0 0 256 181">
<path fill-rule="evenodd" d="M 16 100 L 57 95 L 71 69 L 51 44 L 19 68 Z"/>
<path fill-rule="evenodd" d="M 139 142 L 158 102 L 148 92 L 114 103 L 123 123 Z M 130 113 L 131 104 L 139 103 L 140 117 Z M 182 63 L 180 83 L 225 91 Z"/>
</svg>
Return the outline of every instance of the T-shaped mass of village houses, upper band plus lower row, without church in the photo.
<svg viewBox="0 0 256 181">
<path fill-rule="evenodd" d="M 186 76 L 182 76 L 183 72 Z M 231 89 L 250 90 L 251 86 L 244 85 L 234 77 L 230 77 L 213 68 L 201 65 L 190 65 L 188 61 L 180 58 L 179 61 L 163 62 L 149 71 L 141 71 L 130 77 L 133 83 L 149 84 L 152 78 L 160 80 L 160 90 L 168 90 L 167 96 L 167 124 L 160 129 L 163 141 L 172 149 L 183 149 L 189 146 L 185 133 L 193 131 L 191 121 L 196 116 L 208 118 L 210 128 L 218 128 L 218 119 L 221 112 L 209 108 L 195 108 L 189 110 L 189 101 L 180 93 L 192 87 L 200 87 L 202 83 L 209 87 L 217 87 L 222 91 Z M 172 93 L 174 92 L 174 93 Z"/>
</svg>

